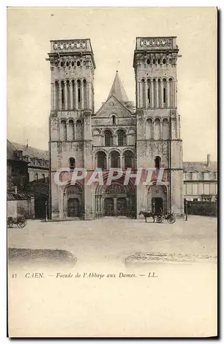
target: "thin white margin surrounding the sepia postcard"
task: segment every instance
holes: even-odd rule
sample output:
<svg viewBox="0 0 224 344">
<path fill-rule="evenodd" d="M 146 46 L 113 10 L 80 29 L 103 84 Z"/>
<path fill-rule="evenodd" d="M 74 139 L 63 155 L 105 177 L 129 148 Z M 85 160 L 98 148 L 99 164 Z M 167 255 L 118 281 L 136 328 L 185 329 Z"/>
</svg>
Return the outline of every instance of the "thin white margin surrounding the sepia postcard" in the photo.
<svg viewBox="0 0 224 344">
<path fill-rule="evenodd" d="M 36 6 L 36 7 L 80 7 L 80 6 L 76 6 L 77 2 L 74 1 L 66 1 L 66 6 L 65 6 L 65 1 L 49 1 L 49 0 L 38 0 L 38 1 L 32 1 L 32 7 Z M 127 5 L 130 7 L 149 7 L 149 5 L 151 5 L 152 3 L 150 3 L 149 1 L 107 1 L 107 3 L 105 3 L 105 1 L 87 1 L 87 0 L 82 0 L 81 1 L 82 7 L 126 7 Z M 188 0 L 188 1 L 181 1 L 181 3 L 179 1 L 156 1 L 156 7 L 170 7 L 170 6 L 176 6 L 176 7 L 183 7 L 183 6 L 191 6 L 191 7 L 205 7 L 205 6 L 217 6 L 220 10 L 222 9 L 222 4 L 223 1 L 219 0 L 219 1 L 205 1 L 205 0 L 201 0 L 201 1 L 192 1 L 192 0 Z M 1 327 L 0 327 L 0 339 L 1 339 L 1 343 L 8 343 L 8 338 L 5 338 L 6 335 L 6 246 L 5 246 L 5 241 L 6 241 L 6 235 L 5 235 L 5 220 L 6 220 L 6 169 L 5 169 L 5 160 L 6 160 L 6 54 L 4 51 L 4 47 L 6 47 L 6 10 L 5 7 L 8 6 L 30 6 L 30 1 L 1 1 L 0 4 L 0 25 L 1 25 L 1 126 L 0 126 L 0 143 L 1 143 L 1 162 L 2 162 L 2 166 L 1 166 L 1 181 L 2 181 L 2 185 L 1 185 L 1 250 L 0 250 L 0 254 L 1 254 Z M 153 7 L 153 6 L 151 6 Z M 155 7 L 155 6 L 154 6 Z M 220 18 L 221 19 L 221 18 Z M 221 24 L 220 24 L 221 27 Z M 221 46 L 220 46 L 220 54 L 223 57 L 223 29 L 221 29 L 221 32 L 219 32 L 220 38 L 221 38 Z M 221 63 L 221 58 L 220 58 L 220 63 Z M 220 74 L 220 88 L 221 88 L 221 92 L 220 92 L 220 103 L 219 103 L 219 109 L 220 109 L 220 137 L 222 136 L 222 134 L 224 133 L 224 128 L 223 128 L 223 120 L 221 120 L 223 113 L 221 111 L 221 99 L 223 98 L 223 89 L 221 87 L 221 80 L 223 80 L 223 69 L 219 69 L 219 74 Z M 220 145 L 220 158 L 223 158 L 223 152 L 224 152 L 224 147 L 223 147 L 223 140 L 221 140 L 221 145 Z M 223 171 L 222 169 L 223 167 L 223 159 L 221 159 L 221 165 L 220 165 L 220 169 L 219 169 L 219 174 L 221 175 L 221 171 Z M 224 186 L 223 184 L 221 184 L 221 189 L 219 189 L 219 193 L 221 195 L 224 194 L 224 190 L 223 190 Z M 221 215 L 221 222 L 223 220 L 223 214 L 224 214 L 224 206 L 223 204 L 221 204 L 221 207 L 219 208 L 219 213 Z M 220 254 L 223 248 L 223 237 L 224 235 L 222 234 L 222 228 L 220 226 L 219 228 L 219 239 L 221 239 L 221 244 L 219 246 L 220 248 Z M 220 261 L 221 267 L 223 267 L 223 255 L 222 259 Z M 221 269 L 220 269 L 221 272 Z M 220 276 L 221 279 L 221 276 Z M 222 283 L 223 279 L 221 279 L 221 286 L 223 286 Z M 220 290 L 221 290 L 221 286 L 220 286 Z M 223 298 L 222 298 L 223 300 Z M 221 304 L 221 311 L 223 310 L 223 302 Z M 223 326 L 223 317 L 221 318 L 221 323 L 220 323 L 220 330 L 221 328 L 224 328 Z M 47 341 L 45 340 L 41 340 L 42 343 L 45 343 Z M 76 339 L 76 341 L 78 341 L 78 339 Z M 118 340 L 119 341 L 119 340 Z M 153 341 L 153 340 L 151 340 Z M 54 341 L 53 341 L 54 342 Z M 58 342 L 58 341 L 57 341 Z M 64 342 L 64 340 L 61 340 L 60 342 Z M 102 341 L 100 341 L 102 342 Z M 157 341 L 156 341 L 157 342 Z M 175 341 L 177 342 L 177 341 Z M 20 343 L 32 343 L 31 340 L 21 340 Z"/>
</svg>

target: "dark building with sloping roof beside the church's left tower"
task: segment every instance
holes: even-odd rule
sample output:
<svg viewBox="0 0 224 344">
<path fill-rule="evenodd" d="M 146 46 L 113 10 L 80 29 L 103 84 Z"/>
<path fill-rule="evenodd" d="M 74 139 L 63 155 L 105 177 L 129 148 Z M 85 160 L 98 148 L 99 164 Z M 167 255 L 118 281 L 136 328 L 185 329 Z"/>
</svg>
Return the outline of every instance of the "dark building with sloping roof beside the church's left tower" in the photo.
<svg viewBox="0 0 224 344">
<path fill-rule="evenodd" d="M 49 154 L 7 140 L 8 216 L 45 217 L 49 198 Z"/>
</svg>

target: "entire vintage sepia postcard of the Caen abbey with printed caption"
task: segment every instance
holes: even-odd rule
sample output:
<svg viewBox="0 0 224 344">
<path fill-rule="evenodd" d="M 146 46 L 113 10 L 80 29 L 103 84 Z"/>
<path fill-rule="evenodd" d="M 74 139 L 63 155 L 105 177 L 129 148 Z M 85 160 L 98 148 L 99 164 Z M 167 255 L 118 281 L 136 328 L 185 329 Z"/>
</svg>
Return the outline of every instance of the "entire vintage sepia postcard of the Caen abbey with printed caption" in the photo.
<svg viewBox="0 0 224 344">
<path fill-rule="evenodd" d="M 8 336 L 217 336 L 216 8 L 8 8 Z"/>
</svg>

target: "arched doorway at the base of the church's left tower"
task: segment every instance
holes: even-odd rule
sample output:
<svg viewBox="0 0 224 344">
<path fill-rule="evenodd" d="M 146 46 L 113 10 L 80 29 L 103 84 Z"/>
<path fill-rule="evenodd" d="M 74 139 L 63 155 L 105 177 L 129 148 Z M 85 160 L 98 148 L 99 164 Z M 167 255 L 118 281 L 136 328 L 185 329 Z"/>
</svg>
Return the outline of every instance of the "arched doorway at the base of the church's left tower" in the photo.
<svg viewBox="0 0 224 344">
<path fill-rule="evenodd" d="M 82 189 L 76 185 L 69 185 L 64 192 L 65 217 L 82 216 Z"/>
</svg>

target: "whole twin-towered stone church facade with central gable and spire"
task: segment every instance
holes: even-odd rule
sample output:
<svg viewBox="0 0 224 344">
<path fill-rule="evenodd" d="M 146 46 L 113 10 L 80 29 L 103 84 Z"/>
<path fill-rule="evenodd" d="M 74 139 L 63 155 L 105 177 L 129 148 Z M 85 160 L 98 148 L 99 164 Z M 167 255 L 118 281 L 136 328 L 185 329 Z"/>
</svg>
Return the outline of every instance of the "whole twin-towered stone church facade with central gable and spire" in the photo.
<svg viewBox="0 0 224 344">
<path fill-rule="evenodd" d="M 89 39 L 51 41 L 48 55 L 52 219 L 137 218 L 139 211 L 158 213 L 161 209 L 183 214 L 176 37 L 137 37 L 135 107 L 116 72 L 106 102 L 94 111 L 96 64 Z M 85 178 L 66 182 L 65 175 L 78 169 L 85 169 Z M 88 182 L 96 169 L 103 183 Z M 112 169 L 122 172 L 108 184 Z M 150 182 L 137 184 L 138 171 L 143 176 L 148 169 L 153 169 Z M 126 171 L 131 178 L 125 183 Z M 159 171 L 164 171 L 161 180 Z"/>
</svg>

